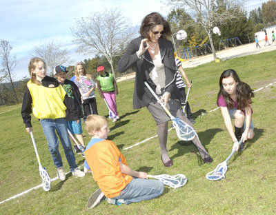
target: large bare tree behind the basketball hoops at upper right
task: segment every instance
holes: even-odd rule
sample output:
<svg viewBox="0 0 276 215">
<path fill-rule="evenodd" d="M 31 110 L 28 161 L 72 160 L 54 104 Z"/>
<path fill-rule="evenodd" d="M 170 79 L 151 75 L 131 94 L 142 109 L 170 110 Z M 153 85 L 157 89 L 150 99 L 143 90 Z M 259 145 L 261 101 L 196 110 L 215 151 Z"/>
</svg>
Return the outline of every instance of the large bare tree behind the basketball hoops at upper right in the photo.
<svg viewBox="0 0 276 215">
<path fill-rule="evenodd" d="M 243 0 L 168 0 L 168 5 L 185 8 L 192 17 L 195 17 L 195 23 L 201 25 L 208 34 L 213 57 L 217 59 L 212 30 L 215 25 L 224 24 L 242 14 L 239 11 L 244 2 Z"/>
</svg>

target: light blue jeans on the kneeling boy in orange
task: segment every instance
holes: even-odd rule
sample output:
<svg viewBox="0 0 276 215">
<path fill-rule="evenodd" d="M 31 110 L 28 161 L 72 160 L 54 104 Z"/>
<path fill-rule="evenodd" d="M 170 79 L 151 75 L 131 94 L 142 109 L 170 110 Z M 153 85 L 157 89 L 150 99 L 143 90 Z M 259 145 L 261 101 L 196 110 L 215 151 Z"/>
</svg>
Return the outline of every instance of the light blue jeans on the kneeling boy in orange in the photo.
<svg viewBox="0 0 276 215">
<path fill-rule="evenodd" d="M 133 178 L 115 199 L 124 199 L 126 205 L 139 203 L 160 196 L 164 192 L 164 184 L 159 180 Z"/>
</svg>

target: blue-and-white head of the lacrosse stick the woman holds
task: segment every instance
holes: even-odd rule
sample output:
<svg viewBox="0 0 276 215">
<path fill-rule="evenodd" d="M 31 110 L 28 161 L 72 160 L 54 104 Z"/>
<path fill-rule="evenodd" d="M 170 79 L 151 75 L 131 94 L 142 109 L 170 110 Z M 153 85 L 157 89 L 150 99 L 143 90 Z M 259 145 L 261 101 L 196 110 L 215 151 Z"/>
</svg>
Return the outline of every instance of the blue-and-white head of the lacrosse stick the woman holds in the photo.
<svg viewBox="0 0 276 215">
<path fill-rule="evenodd" d="M 195 130 L 187 123 L 184 123 L 179 117 L 172 120 L 172 125 L 175 127 L 177 136 L 182 141 L 190 141 L 195 138 Z"/>
</svg>

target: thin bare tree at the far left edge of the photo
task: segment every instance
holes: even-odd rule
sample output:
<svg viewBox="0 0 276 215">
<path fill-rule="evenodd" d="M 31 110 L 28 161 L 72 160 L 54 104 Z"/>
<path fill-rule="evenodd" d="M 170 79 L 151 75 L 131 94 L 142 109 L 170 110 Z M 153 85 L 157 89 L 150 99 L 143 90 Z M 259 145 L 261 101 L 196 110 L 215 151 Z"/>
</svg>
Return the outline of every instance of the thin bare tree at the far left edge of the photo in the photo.
<svg viewBox="0 0 276 215">
<path fill-rule="evenodd" d="M 17 101 L 17 92 L 14 88 L 14 83 L 12 81 L 14 74 L 12 74 L 12 70 L 14 69 L 17 61 L 15 55 L 11 55 L 10 51 L 12 50 L 12 46 L 6 40 L 1 40 L 0 43 L 0 64 L 1 64 L 1 77 L 0 80 L 7 80 L 12 85 L 12 91 L 14 92 L 14 97 Z"/>
</svg>

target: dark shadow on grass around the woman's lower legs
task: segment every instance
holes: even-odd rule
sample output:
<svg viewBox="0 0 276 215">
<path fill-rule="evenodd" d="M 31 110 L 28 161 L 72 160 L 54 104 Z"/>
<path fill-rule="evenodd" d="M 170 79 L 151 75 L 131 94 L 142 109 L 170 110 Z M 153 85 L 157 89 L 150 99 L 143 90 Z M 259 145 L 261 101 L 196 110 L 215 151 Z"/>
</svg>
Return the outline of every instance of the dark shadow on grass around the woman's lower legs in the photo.
<svg viewBox="0 0 276 215">
<path fill-rule="evenodd" d="M 221 132 L 222 130 L 220 128 L 211 128 L 206 130 L 205 132 L 199 132 L 197 135 L 199 136 L 199 140 L 201 141 L 201 144 L 205 147 L 210 143 L 210 141 L 214 138 L 215 134 L 218 132 Z M 186 147 L 183 147 L 186 146 Z M 199 165 L 203 163 L 201 156 L 199 155 L 197 147 L 193 144 L 192 141 L 178 141 L 175 143 L 175 145 L 172 145 L 169 151 L 177 149 L 177 154 L 174 154 L 171 159 L 177 158 L 178 156 L 182 156 L 186 153 L 194 153 L 197 155 L 197 160 Z M 208 152 L 208 151 L 207 151 Z"/>
</svg>

